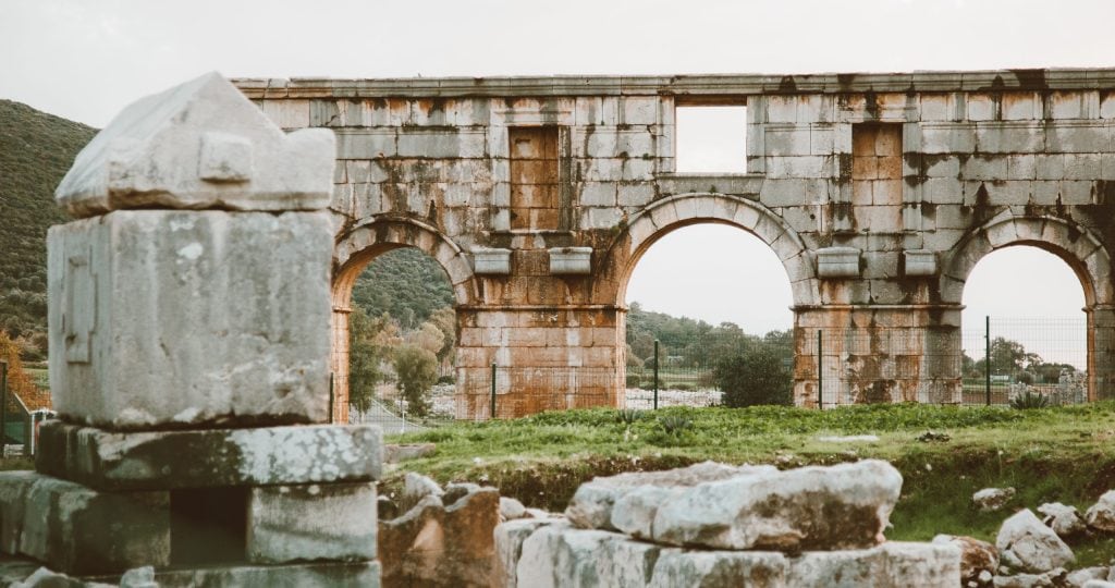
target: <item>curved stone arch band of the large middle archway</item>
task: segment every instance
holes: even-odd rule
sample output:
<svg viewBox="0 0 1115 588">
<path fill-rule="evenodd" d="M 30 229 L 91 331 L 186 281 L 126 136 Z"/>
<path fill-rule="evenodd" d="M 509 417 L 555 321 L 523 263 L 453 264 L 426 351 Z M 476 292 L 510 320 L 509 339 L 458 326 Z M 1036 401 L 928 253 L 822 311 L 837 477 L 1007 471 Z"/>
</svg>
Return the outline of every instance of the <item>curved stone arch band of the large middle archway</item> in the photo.
<svg viewBox="0 0 1115 588">
<path fill-rule="evenodd" d="M 774 250 L 786 270 L 795 307 L 820 299 L 813 254 L 782 216 L 763 204 L 739 196 L 696 192 L 649 204 L 609 245 L 604 273 L 598 280 L 598 300 L 622 306 L 627 285 L 642 256 L 666 234 L 691 224 L 720 223 L 758 237 Z"/>
</svg>

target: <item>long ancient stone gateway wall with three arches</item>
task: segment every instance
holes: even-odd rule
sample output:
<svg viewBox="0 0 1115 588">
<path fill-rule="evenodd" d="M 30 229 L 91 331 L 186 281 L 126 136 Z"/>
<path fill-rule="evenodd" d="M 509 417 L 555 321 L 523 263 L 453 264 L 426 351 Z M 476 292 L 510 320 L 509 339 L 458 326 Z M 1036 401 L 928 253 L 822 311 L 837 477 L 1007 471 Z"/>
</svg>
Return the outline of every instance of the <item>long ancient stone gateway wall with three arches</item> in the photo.
<svg viewBox="0 0 1115 588">
<path fill-rule="evenodd" d="M 750 231 L 783 261 L 799 404 L 816 403 L 816 329 L 842 359 L 826 394 L 958 402 L 964 280 L 1017 244 L 1079 277 L 1089 396 L 1115 395 L 1115 70 L 236 85 L 281 127 L 337 135 L 339 399 L 355 276 L 416 247 L 455 288 L 458 386 L 492 363 L 610 368 L 593 402 L 615 403 L 632 267 L 700 222 Z M 746 174 L 676 173 L 687 105 L 746 106 Z M 547 392 L 498 384 L 512 413 Z"/>
</svg>

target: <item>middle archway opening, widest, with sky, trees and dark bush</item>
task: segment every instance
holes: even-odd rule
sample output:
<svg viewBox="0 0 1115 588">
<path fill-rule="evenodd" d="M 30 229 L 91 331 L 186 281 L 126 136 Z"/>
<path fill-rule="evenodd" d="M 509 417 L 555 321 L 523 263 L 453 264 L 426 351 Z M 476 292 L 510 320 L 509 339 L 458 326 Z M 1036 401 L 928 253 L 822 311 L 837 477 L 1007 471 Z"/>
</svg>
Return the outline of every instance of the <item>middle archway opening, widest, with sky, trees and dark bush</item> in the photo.
<svg viewBox="0 0 1115 588">
<path fill-rule="evenodd" d="M 665 230 L 632 263 L 623 290 L 628 407 L 792 402 L 793 295 L 768 244 L 701 222 Z"/>
</svg>

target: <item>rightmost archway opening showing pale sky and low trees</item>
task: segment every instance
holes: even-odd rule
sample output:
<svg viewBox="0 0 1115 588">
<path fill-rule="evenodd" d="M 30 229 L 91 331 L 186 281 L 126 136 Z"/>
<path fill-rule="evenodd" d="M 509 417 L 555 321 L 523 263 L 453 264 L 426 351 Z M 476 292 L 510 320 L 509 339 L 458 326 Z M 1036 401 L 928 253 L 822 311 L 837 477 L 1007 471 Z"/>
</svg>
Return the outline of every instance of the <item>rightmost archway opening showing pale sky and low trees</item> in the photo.
<svg viewBox="0 0 1115 588">
<path fill-rule="evenodd" d="M 1086 402 L 1085 288 L 1065 259 L 1038 247 L 980 259 L 963 289 L 963 402 Z"/>
</svg>

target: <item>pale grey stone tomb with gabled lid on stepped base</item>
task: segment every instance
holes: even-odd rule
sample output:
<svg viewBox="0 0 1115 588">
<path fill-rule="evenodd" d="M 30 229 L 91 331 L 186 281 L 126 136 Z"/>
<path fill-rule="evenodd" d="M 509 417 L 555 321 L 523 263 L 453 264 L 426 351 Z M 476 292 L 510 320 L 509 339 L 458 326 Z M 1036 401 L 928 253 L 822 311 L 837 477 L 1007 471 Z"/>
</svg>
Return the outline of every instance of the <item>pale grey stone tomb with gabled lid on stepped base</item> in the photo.
<svg viewBox="0 0 1115 588">
<path fill-rule="evenodd" d="M 203 76 L 125 109 L 57 191 L 59 421 L 0 474 L 0 551 L 159 586 L 376 586 L 380 432 L 329 421 L 333 136 Z"/>
</svg>

